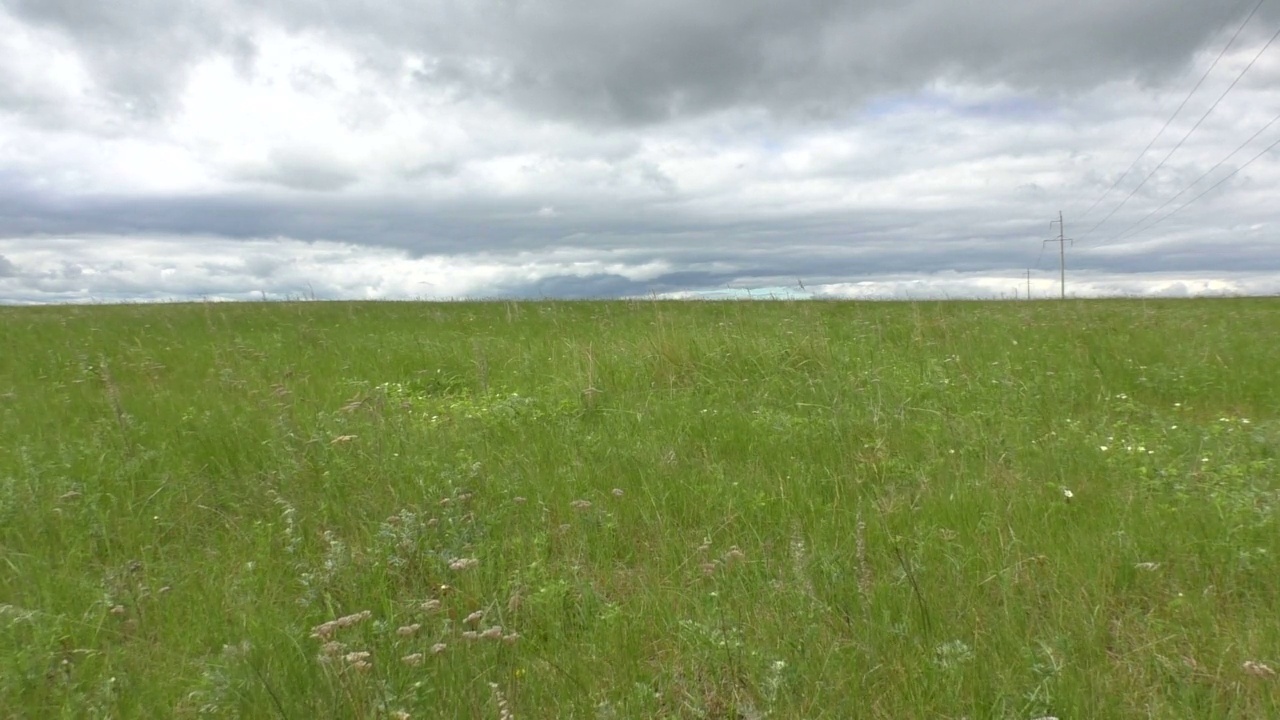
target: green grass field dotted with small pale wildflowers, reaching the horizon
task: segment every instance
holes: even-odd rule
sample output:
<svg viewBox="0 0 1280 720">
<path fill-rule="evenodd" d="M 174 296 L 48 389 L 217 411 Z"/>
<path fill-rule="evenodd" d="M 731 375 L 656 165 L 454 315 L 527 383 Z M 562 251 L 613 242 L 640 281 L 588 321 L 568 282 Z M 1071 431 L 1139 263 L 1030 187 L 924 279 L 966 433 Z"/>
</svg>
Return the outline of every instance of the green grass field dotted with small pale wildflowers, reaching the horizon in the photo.
<svg viewBox="0 0 1280 720">
<path fill-rule="evenodd" d="M 1280 301 L 0 309 L 0 717 L 1280 717 Z"/>
</svg>

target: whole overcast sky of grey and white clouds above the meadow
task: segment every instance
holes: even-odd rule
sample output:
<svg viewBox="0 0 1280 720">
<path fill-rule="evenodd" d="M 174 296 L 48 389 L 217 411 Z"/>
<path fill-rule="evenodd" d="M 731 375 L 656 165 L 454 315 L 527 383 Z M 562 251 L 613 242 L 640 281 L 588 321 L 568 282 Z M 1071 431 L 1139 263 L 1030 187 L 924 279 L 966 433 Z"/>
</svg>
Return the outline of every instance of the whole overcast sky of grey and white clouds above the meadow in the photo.
<svg viewBox="0 0 1280 720">
<path fill-rule="evenodd" d="M 1069 293 L 1277 293 L 1277 31 L 1280 0 L 0 0 L 0 302 L 1048 296 L 1060 210 Z"/>
</svg>

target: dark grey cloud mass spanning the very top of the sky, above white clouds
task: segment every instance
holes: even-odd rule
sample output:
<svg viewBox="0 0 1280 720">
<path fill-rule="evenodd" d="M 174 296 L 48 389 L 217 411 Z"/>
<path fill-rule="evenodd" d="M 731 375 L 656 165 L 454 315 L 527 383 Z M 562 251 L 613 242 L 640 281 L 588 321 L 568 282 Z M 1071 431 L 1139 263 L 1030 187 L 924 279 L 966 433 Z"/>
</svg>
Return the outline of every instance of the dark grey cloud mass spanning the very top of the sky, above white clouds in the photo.
<svg viewBox="0 0 1280 720">
<path fill-rule="evenodd" d="M 1249 1 L 1175 0 L 12 0 L 73 37 L 113 95 L 154 114 L 192 63 L 250 72 L 255 27 L 312 31 L 376 65 L 426 59 L 420 81 L 549 117 L 655 123 L 723 108 L 837 117 L 938 77 L 1074 91 L 1175 73 Z M 1265 9 L 1263 20 L 1280 17 Z M 264 24 L 265 23 L 265 24 Z"/>
</svg>

